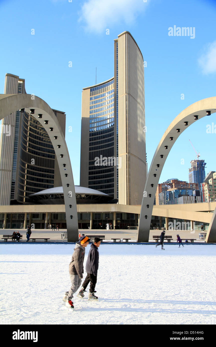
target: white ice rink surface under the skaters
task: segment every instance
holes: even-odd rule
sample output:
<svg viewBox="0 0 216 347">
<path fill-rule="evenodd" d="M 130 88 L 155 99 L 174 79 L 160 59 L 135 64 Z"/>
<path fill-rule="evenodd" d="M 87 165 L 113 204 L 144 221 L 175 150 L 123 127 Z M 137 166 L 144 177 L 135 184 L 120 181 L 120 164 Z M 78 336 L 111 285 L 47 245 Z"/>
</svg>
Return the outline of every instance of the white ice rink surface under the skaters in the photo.
<svg viewBox="0 0 216 347">
<path fill-rule="evenodd" d="M 101 244 L 98 301 L 88 286 L 70 312 L 62 297 L 74 247 L 0 245 L 1 324 L 216 324 L 216 245 Z"/>
</svg>

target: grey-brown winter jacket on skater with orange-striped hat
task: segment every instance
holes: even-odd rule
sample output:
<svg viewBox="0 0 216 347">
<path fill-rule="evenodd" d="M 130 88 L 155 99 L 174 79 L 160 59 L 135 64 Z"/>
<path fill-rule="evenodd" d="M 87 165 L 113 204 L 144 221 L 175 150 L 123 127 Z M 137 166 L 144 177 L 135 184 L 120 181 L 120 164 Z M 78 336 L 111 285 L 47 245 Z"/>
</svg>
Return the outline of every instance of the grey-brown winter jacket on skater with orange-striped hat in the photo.
<svg viewBox="0 0 216 347">
<path fill-rule="evenodd" d="M 79 243 L 76 243 L 74 248 L 74 253 L 72 255 L 72 260 L 69 264 L 69 273 L 71 275 L 78 275 L 79 278 L 83 278 L 83 262 L 85 256 L 85 248 Z"/>
</svg>

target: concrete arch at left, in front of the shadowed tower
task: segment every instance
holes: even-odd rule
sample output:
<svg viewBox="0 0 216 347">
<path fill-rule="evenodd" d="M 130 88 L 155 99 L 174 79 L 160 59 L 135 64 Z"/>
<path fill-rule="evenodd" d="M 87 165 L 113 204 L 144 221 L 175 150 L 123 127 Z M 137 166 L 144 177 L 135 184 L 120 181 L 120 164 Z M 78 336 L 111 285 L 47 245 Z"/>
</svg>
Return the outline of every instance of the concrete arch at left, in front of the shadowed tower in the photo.
<svg viewBox="0 0 216 347">
<path fill-rule="evenodd" d="M 34 100 L 32 100 L 32 98 Z M 32 96 L 30 94 L 0 94 L 0 120 L 20 109 L 25 109 L 25 112 L 29 114 L 30 109 L 34 109 L 34 114 L 31 113 L 31 116 L 40 122 L 50 137 L 59 164 L 62 180 L 68 242 L 75 242 L 78 239 L 78 220 L 74 178 L 67 144 L 60 130 L 59 122 L 49 105 L 37 96 Z M 42 115 L 42 118 L 38 118 L 38 114 Z M 45 120 L 47 124 L 44 123 Z M 50 131 L 50 128 L 52 131 Z M 65 175 L 67 175 L 67 177 Z"/>
</svg>

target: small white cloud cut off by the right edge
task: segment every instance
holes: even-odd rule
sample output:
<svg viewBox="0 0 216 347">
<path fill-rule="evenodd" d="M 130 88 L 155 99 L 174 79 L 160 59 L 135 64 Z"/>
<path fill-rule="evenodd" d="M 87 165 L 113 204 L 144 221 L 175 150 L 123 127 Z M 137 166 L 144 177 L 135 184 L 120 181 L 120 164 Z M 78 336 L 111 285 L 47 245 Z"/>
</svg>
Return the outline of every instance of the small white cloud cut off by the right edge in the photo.
<svg viewBox="0 0 216 347">
<path fill-rule="evenodd" d="M 204 53 L 198 59 L 202 72 L 207 75 L 216 72 L 216 41 L 204 48 Z"/>
</svg>

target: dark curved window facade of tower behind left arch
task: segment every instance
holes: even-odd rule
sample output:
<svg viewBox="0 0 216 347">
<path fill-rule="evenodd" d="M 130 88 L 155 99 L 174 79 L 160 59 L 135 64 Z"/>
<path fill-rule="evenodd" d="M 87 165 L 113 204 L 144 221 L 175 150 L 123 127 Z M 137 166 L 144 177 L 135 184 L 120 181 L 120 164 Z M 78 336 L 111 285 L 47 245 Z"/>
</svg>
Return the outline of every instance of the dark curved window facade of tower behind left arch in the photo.
<svg viewBox="0 0 216 347">
<path fill-rule="evenodd" d="M 55 151 L 46 130 L 34 117 L 24 112 L 20 120 L 17 200 L 29 203 L 30 194 L 54 187 Z"/>
</svg>

